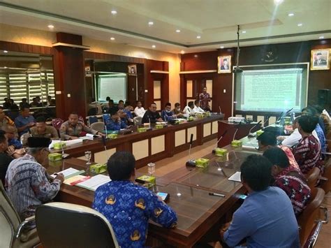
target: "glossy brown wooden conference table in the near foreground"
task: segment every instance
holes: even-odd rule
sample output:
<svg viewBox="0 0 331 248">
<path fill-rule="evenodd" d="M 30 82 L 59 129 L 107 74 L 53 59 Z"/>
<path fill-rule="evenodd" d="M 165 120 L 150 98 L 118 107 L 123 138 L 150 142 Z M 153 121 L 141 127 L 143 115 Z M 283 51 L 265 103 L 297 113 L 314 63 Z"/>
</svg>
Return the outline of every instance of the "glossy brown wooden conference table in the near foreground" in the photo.
<svg viewBox="0 0 331 248">
<path fill-rule="evenodd" d="M 183 164 L 162 177 L 156 177 L 156 187 L 153 190 L 170 194 L 167 203 L 177 212 L 178 222 L 176 228 L 167 229 L 150 221 L 147 240 L 161 240 L 167 247 L 192 247 L 215 224 L 230 220 L 246 189 L 240 182 L 230 181 L 228 177 L 240 171 L 240 165 L 247 156 L 259 152 L 256 149 L 234 148 L 230 145 L 223 148 L 228 149 L 225 157 L 215 156 L 212 151 L 203 156 L 209 159 L 207 168 Z M 48 166 L 47 170 L 49 173 L 66 168 L 81 170 L 87 168 L 85 163 L 81 159 L 71 158 L 58 161 Z M 89 170 L 87 174 L 90 174 Z M 139 175 L 138 173 L 137 176 Z M 225 197 L 210 196 L 209 192 L 223 194 Z M 62 184 L 55 198 L 57 201 L 87 207 L 91 207 L 93 199 L 94 191 L 66 184 Z"/>
</svg>

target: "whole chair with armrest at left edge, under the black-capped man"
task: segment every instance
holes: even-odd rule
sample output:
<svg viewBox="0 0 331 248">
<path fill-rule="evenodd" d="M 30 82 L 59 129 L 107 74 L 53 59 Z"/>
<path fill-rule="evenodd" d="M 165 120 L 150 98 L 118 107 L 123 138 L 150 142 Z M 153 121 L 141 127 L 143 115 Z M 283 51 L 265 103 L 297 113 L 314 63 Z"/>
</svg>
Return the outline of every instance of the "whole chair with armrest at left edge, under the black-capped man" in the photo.
<svg viewBox="0 0 331 248">
<path fill-rule="evenodd" d="M 36 228 L 22 232 L 31 221 L 34 221 L 34 217 L 24 221 L 20 219 L 0 180 L 0 247 L 30 248 L 38 245 Z"/>
</svg>

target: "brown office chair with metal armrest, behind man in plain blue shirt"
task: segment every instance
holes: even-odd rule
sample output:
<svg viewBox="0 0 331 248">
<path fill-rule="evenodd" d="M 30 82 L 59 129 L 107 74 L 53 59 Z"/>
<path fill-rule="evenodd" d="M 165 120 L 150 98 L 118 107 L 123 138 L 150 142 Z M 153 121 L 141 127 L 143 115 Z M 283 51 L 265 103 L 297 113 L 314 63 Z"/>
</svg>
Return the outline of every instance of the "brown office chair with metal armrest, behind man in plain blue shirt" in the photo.
<svg viewBox="0 0 331 248">
<path fill-rule="evenodd" d="M 300 228 L 300 244 L 311 243 L 310 246 L 314 247 L 314 243 L 318 238 L 318 233 L 321 230 L 321 224 L 328 223 L 328 209 L 321 207 L 325 196 L 325 192 L 321 188 L 316 188 L 311 192 L 311 199 L 304 211 L 297 217 L 297 223 Z M 319 219 L 320 209 L 324 211 L 325 220 Z"/>
</svg>

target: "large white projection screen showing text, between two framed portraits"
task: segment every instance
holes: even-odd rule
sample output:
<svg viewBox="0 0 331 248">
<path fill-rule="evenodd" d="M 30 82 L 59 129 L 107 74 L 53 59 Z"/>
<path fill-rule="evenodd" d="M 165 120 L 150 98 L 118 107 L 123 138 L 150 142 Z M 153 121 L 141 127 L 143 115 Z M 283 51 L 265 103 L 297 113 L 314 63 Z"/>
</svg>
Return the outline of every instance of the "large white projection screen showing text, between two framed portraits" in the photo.
<svg viewBox="0 0 331 248">
<path fill-rule="evenodd" d="M 307 105 L 307 64 L 263 67 L 235 74 L 235 110 L 300 112 Z"/>
</svg>

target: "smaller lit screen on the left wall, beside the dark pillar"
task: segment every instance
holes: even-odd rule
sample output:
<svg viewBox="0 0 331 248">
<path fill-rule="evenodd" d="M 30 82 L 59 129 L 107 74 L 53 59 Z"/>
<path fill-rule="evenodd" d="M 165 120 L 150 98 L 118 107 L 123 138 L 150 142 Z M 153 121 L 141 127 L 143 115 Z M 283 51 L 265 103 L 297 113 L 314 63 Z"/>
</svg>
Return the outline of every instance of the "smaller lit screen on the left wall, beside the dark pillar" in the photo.
<svg viewBox="0 0 331 248">
<path fill-rule="evenodd" d="M 105 101 L 107 96 L 118 103 L 126 101 L 126 74 L 98 75 L 98 101 Z"/>
</svg>

